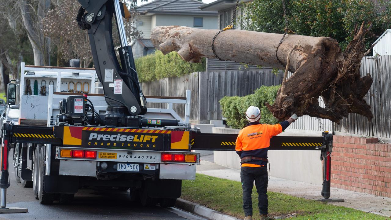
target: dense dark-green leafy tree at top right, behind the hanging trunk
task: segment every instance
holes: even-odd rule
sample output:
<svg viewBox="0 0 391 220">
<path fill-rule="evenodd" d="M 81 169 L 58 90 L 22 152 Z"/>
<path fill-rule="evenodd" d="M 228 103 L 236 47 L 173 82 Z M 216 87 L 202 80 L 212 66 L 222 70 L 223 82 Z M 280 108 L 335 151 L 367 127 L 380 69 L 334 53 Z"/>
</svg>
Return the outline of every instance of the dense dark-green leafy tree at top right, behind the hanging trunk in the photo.
<svg viewBox="0 0 391 220">
<path fill-rule="evenodd" d="M 369 47 L 391 25 L 391 2 L 386 0 L 285 0 L 288 27 L 297 34 L 326 36 L 344 50 L 352 40 L 356 24 L 372 22 Z M 285 22 L 282 0 L 253 0 L 242 7 L 243 29 L 283 33 Z"/>
</svg>

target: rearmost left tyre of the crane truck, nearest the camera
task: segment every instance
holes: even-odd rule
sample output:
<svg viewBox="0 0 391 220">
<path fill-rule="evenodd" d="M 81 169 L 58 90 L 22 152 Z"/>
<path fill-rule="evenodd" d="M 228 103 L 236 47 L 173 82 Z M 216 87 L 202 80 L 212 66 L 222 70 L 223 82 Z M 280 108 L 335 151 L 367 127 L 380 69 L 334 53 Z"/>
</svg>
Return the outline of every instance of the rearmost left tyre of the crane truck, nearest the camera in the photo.
<svg viewBox="0 0 391 220">
<path fill-rule="evenodd" d="M 45 158 L 44 148 L 39 150 L 39 169 L 38 173 L 38 198 L 40 204 L 52 204 L 54 200 L 54 194 L 45 192 L 45 166 L 43 160 Z"/>
</svg>

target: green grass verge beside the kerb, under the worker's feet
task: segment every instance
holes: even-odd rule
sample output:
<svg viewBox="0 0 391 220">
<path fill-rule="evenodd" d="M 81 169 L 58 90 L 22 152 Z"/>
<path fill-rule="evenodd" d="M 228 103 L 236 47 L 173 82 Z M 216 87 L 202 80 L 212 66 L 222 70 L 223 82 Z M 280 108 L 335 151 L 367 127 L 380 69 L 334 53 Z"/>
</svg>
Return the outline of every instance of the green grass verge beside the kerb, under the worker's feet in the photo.
<svg viewBox="0 0 391 220">
<path fill-rule="evenodd" d="M 267 195 L 269 197 L 269 216 L 289 216 L 296 213 L 295 216 L 288 218 L 295 220 L 389 220 L 384 216 L 282 193 L 268 192 Z M 253 219 L 256 220 L 259 219 L 259 213 L 258 194 L 255 186 L 252 196 Z M 197 173 L 195 180 L 182 182 L 181 198 L 237 218 L 244 218 L 240 182 Z"/>
</svg>

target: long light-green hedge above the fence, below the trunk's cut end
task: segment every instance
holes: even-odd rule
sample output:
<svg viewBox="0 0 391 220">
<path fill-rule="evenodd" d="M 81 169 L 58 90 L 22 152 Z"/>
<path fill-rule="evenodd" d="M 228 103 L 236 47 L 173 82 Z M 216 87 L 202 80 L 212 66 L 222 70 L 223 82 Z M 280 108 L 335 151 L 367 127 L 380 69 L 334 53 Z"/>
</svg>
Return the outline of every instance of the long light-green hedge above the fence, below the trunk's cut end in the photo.
<svg viewBox="0 0 391 220">
<path fill-rule="evenodd" d="M 205 58 L 201 63 L 184 61 L 177 52 L 163 55 L 160 50 L 135 60 L 138 79 L 140 82 L 149 82 L 171 76 L 183 76 L 192 72 L 201 72 L 206 69 Z"/>
</svg>

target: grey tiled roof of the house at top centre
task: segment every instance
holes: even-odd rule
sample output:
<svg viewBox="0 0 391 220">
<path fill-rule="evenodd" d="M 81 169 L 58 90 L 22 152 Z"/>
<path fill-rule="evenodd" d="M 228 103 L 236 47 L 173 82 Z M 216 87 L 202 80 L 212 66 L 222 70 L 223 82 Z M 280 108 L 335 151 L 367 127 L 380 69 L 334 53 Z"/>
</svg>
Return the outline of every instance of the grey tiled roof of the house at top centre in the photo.
<svg viewBox="0 0 391 220">
<path fill-rule="evenodd" d="M 217 14 L 217 11 L 201 11 L 199 7 L 203 5 L 197 0 L 154 0 L 137 7 L 137 11 L 141 14 Z"/>
</svg>

